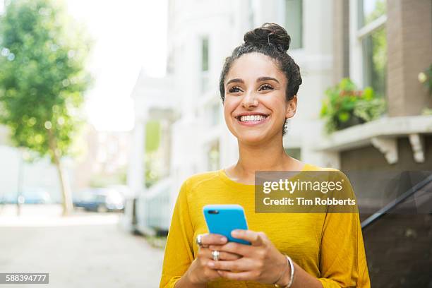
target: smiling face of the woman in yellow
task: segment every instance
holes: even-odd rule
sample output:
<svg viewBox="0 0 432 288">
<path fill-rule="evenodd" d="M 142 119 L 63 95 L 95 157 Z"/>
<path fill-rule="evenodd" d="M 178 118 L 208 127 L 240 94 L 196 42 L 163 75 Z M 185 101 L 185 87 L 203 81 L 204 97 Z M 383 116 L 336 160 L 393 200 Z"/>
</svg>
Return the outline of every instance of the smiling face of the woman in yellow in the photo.
<svg viewBox="0 0 432 288">
<path fill-rule="evenodd" d="M 297 98 L 285 98 L 287 78 L 269 56 L 248 53 L 236 59 L 224 80 L 224 117 L 229 131 L 248 144 L 282 138 L 296 112 Z"/>
</svg>

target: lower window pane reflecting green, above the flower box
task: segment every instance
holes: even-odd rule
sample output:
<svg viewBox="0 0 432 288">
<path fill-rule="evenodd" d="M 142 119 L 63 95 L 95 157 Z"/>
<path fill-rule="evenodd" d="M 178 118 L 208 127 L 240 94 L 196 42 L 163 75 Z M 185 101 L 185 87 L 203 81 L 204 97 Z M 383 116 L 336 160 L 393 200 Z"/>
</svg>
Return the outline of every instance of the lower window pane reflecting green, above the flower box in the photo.
<svg viewBox="0 0 432 288">
<path fill-rule="evenodd" d="M 378 95 L 385 96 L 387 40 L 385 28 L 379 28 L 363 40 L 364 79 Z"/>
</svg>

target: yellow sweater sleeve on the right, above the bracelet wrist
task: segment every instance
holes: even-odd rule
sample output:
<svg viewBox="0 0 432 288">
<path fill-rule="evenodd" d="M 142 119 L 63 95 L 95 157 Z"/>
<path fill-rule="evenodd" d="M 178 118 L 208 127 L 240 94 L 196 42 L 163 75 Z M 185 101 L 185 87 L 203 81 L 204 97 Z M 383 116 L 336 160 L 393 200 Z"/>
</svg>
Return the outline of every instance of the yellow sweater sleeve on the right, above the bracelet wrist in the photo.
<svg viewBox="0 0 432 288">
<path fill-rule="evenodd" d="M 344 188 L 354 198 L 345 174 Z M 323 288 L 370 288 L 363 236 L 358 213 L 327 213 L 320 247 L 320 278 Z"/>
</svg>

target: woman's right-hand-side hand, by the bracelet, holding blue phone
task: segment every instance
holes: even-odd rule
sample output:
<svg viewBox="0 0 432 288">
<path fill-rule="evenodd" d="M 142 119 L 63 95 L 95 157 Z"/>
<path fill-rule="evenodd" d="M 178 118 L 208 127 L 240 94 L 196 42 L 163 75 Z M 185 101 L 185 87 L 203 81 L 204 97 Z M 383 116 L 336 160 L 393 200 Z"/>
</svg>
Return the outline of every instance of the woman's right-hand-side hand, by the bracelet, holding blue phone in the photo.
<svg viewBox="0 0 432 288">
<path fill-rule="evenodd" d="M 223 245 L 211 244 L 210 250 L 221 251 L 221 255 L 232 253 L 242 256 L 234 260 L 208 261 L 210 268 L 217 270 L 220 276 L 231 280 L 254 280 L 275 284 L 280 281 L 282 275 L 290 272 L 287 258 L 277 250 L 263 232 L 237 229 L 232 232 L 232 236 L 249 241 L 252 245 L 236 242 Z"/>
</svg>

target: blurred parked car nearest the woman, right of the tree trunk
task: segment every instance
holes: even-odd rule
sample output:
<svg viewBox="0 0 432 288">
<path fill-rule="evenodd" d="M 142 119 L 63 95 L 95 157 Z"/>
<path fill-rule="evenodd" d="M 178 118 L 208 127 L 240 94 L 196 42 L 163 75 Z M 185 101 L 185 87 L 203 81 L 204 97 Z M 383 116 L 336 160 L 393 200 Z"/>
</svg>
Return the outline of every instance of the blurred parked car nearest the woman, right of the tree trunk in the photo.
<svg viewBox="0 0 432 288">
<path fill-rule="evenodd" d="M 73 206 L 96 212 L 123 211 L 124 196 L 113 188 L 90 188 L 73 199 Z"/>
</svg>

